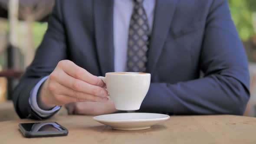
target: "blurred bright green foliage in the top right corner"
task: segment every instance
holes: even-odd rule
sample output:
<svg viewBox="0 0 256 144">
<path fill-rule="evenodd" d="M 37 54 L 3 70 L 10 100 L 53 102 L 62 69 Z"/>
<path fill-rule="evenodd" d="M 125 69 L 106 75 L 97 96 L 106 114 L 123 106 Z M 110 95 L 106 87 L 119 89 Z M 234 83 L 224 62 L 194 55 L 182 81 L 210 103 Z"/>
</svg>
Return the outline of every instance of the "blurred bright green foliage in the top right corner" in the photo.
<svg viewBox="0 0 256 144">
<path fill-rule="evenodd" d="M 253 12 L 256 12 L 256 0 L 228 0 L 228 2 L 240 38 L 246 41 L 255 34 Z"/>
</svg>

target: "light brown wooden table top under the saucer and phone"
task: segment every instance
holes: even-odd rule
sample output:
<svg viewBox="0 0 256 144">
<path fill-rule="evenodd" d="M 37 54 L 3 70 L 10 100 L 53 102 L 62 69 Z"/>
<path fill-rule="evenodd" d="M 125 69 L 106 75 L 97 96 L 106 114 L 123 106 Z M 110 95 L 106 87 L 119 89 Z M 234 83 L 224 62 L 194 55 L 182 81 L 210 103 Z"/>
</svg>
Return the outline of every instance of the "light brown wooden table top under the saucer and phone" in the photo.
<svg viewBox="0 0 256 144">
<path fill-rule="evenodd" d="M 25 138 L 21 122 L 0 122 L 1 144 L 256 144 L 256 118 L 234 115 L 171 116 L 147 130 L 120 131 L 92 120 L 92 116 L 56 116 L 68 128 L 65 137 Z"/>
</svg>

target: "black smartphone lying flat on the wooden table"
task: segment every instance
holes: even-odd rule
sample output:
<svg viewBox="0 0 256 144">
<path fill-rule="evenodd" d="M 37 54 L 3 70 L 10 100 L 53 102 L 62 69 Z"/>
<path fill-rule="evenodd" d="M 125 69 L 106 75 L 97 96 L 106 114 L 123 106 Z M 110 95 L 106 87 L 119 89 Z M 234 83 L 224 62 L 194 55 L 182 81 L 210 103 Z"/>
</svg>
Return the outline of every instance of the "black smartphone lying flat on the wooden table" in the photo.
<svg viewBox="0 0 256 144">
<path fill-rule="evenodd" d="M 56 122 L 38 122 L 19 124 L 24 137 L 56 137 L 66 136 L 69 131 Z"/>
</svg>

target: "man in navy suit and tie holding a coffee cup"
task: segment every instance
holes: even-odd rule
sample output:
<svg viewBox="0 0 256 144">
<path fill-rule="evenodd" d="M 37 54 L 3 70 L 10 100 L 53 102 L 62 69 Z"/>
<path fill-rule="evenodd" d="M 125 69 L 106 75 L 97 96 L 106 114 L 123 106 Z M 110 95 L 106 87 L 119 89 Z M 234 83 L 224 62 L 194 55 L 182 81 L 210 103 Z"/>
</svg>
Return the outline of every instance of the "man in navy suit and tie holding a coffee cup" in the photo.
<svg viewBox="0 0 256 144">
<path fill-rule="evenodd" d="M 97 76 L 123 71 L 151 73 L 142 112 L 242 115 L 249 99 L 227 0 L 56 0 L 15 89 L 16 111 L 43 119 L 68 104 L 70 113 L 113 113 Z"/>
</svg>

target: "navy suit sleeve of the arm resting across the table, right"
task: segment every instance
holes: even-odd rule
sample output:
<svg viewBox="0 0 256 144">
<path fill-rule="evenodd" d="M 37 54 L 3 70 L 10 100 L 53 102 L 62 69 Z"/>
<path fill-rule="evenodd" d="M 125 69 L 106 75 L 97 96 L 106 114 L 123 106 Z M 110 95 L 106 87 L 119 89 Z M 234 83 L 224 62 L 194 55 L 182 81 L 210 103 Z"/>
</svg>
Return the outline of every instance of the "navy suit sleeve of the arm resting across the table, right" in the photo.
<svg viewBox="0 0 256 144">
<path fill-rule="evenodd" d="M 139 111 L 242 115 L 249 100 L 246 55 L 226 0 L 213 0 L 200 54 L 201 79 L 151 83 Z M 170 73 L 171 76 L 171 73 Z"/>
</svg>

